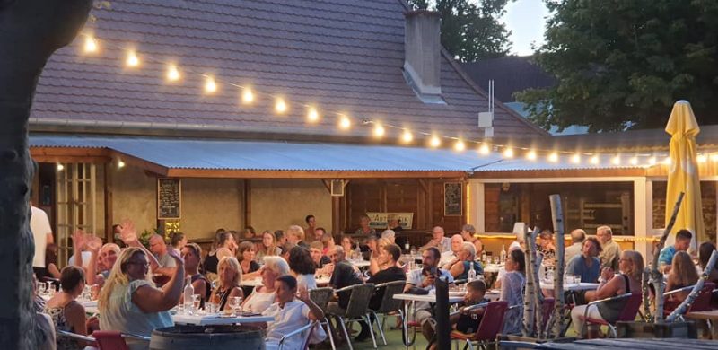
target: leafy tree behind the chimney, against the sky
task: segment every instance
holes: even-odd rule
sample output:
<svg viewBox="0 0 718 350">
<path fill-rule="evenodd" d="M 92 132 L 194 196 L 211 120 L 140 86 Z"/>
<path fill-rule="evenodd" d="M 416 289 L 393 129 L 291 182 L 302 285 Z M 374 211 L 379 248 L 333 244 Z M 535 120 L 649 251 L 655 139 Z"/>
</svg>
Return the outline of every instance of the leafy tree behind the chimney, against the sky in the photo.
<svg viewBox="0 0 718 350">
<path fill-rule="evenodd" d="M 509 0 L 436 0 L 433 10 L 442 18 L 442 45 L 461 62 L 503 57 L 511 43 L 506 27 L 498 21 Z M 415 9 L 429 8 L 428 0 L 409 0 Z"/>
</svg>

